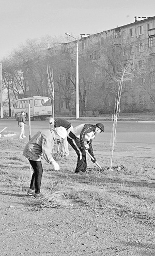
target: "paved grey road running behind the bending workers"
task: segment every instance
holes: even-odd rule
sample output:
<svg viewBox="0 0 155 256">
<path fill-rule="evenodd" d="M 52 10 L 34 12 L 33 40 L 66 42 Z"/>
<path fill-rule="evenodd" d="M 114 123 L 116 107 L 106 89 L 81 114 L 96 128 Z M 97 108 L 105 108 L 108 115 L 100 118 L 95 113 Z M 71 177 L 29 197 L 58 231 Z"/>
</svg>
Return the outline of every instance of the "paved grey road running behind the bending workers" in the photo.
<svg viewBox="0 0 155 256">
<path fill-rule="evenodd" d="M 82 124 L 82 123 L 90 123 L 96 124 L 101 123 L 101 119 L 98 120 L 72 120 L 73 126 Z M 96 136 L 96 142 L 110 142 L 111 133 L 112 133 L 112 122 L 103 121 L 105 126 L 105 132 L 100 133 Z M 13 138 L 19 138 L 20 128 L 18 127 L 18 122 L 16 120 L 4 120 L 0 119 L 0 131 L 7 127 L 5 131 L 15 132 L 16 135 Z M 41 129 L 49 129 L 48 120 L 46 121 L 31 121 L 31 137 Z M 154 122 L 118 122 L 117 123 L 117 143 L 128 143 L 128 144 L 138 144 L 139 146 L 151 147 L 155 149 L 155 123 Z M 29 129 L 28 122 L 25 127 L 25 134 L 28 137 Z"/>
</svg>

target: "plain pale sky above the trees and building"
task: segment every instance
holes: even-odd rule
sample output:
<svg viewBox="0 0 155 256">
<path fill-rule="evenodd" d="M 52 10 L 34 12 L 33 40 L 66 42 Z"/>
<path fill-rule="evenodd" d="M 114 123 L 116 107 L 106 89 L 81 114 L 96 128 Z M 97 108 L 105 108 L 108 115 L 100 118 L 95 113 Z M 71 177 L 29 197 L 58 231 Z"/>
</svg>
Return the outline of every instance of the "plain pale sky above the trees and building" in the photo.
<svg viewBox="0 0 155 256">
<path fill-rule="evenodd" d="M 0 59 L 26 39 L 95 34 L 155 16 L 155 0 L 0 0 Z"/>
</svg>

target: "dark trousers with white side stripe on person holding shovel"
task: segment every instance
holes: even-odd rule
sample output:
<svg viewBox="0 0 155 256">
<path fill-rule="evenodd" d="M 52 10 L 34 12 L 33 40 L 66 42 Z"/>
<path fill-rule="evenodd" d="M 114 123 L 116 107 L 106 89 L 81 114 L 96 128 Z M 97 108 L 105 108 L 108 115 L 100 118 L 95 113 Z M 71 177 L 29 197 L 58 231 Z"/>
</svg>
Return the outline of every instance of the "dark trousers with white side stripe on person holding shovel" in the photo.
<svg viewBox="0 0 155 256">
<path fill-rule="evenodd" d="M 87 169 L 86 152 L 81 151 L 79 149 L 80 144 L 78 139 L 73 140 L 67 137 L 67 141 L 77 154 L 77 165 L 76 165 L 75 173 L 79 173 L 80 171 L 85 172 Z"/>
</svg>

